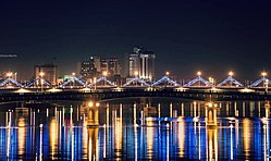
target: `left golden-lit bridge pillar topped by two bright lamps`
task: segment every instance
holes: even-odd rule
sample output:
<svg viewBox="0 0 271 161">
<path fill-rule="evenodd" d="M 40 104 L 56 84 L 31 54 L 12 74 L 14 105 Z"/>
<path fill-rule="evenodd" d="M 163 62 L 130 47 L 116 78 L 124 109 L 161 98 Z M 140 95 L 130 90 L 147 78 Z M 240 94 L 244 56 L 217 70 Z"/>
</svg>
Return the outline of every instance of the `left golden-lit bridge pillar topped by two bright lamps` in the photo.
<svg viewBox="0 0 271 161">
<path fill-rule="evenodd" d="M 99 126 L 99 102 L 88 102 L 87 126 Z"/>
</svg>

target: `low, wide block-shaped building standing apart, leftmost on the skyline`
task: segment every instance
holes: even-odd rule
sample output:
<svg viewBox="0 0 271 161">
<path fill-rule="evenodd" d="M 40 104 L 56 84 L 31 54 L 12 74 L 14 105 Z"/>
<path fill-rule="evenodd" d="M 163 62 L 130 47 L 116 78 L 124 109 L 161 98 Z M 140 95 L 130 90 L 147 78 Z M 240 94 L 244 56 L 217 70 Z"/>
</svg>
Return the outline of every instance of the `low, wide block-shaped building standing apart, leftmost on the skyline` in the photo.
<svg viewBox="0 0 271 161">
<path fill-rule="evenodd" d="M 35 77 L 40 76 L 40 73 L 44 73 L 42 78 L 49 82 L 51 85 L 57 85 L 58 78 L 58 66 L 54 64 L 44 64 L 36 65 L 34 69 Z"/>
</svg>

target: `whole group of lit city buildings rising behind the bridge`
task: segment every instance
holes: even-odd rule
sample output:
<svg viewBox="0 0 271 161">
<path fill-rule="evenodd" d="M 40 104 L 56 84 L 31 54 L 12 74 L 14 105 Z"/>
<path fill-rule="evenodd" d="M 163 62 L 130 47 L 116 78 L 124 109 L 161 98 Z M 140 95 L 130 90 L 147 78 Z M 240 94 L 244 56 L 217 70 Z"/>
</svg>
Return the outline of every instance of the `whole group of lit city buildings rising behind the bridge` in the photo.
<svg viewBox="0 0 271 161">
<path fill-rule="evenodd" d="M 121 62 L 115 57 L 101 58 L 100 55 L 90 55 L 88 60 L 79 62 L 79 72 L 76 74 L 82 78 L 88 81 L 94 77 L 107 76 L 113 81 L 121 81 L 121 78 L 139 77 L 145 81 L 155 81 L 155 60 L 156 54 L 143 47 L 134 47 L 133 52 L 128 53 L 125 63 L 128 65 L 127 75 L 121 75 Z M 50 84 L 58 84 L 58 66 L 54 64 L 36 65 L 34 69 L 35 77 L 40 76 Z M 73 73 L 75 75 L 75 73 Z M 72 74 L 72 75 L 73 75 Z M 104 75 L 106 74 L 106 75 Z M 64 75 L 64 78 L 72 75 Z M 60 78 L 61 79 L 61 78 Z M 62 78 L 63 79 L 63 78 Z M 63 82 L 63 81 L 62 81 Z"/>
</svg>

